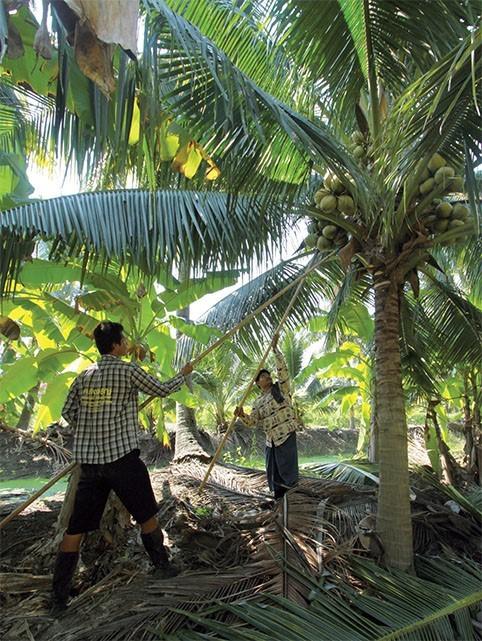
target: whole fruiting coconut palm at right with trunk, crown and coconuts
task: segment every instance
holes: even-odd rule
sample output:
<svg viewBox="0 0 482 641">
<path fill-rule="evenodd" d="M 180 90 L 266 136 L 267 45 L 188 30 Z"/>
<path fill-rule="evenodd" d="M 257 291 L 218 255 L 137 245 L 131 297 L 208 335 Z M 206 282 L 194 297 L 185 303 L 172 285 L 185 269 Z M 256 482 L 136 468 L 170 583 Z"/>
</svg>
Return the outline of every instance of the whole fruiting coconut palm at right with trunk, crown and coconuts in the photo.
<svg viewBox="0 0 482 641">
<path fill-rule="evenodd" d="M 143 7 L 139 78 L 150 107 L 195 132 L 216 159 L 220 186 L 263 207 L 291 205 L 297 195 L 298 213 L 317 224 L 319 249 L 344 245 L 335 310 L 360 289 L 372 296 L 377 530 L 388 563 L 408 568 L 400 308 L 406 284 L 417 292 L 420 274 L 435 280 L 433 250 L 466 242 L 478 228 L 480 7 L 472 0 L 144 0 Z M 119 113 L 125 104 L 119 100 Z M 140 126 L 147 131 L 151 121 Z M 465 185 L 452 179 L 457 173 Z M 324 190 L 317 207 L 313 181 Z M 469 217 L 454 208 L 461 191 Z M 4 220 L 15 227 L 14 217 Z"/>
</svg>

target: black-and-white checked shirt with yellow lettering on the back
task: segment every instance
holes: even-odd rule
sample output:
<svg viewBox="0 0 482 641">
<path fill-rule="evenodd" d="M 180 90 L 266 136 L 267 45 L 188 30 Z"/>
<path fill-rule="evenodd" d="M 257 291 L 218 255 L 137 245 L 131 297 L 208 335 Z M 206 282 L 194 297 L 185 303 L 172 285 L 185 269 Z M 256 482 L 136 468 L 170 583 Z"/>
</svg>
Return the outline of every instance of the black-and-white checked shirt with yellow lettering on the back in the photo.
<svg viewBox="0 0 482 641">
<path fill-rule="evenodd" d="M 136 363 L 104 354 L 69 390 L 62 416 L 75 430 L 78 463 L 110 463 L 139 447 L 137 396 L 177 392 L 184 376 L 161 383 Z"/>
</svg>

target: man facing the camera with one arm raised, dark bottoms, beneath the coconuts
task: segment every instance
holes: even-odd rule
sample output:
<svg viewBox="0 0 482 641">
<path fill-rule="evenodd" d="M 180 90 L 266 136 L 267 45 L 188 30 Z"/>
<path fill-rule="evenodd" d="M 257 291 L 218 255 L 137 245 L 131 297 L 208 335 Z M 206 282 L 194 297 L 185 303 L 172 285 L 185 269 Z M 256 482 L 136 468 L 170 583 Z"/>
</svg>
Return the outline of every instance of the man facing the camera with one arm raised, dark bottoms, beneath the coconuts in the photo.
<svg viewBox="0 0 482 641">
<path fill-rule="evenodd" d="M 275 499 L 283 497 L 286 490 L 298 482 L 298 421 L 293 409 L 288 368 L 278 349 L 278 338 L 275 335 L 272 343 L 278 382 L 273 383 L 270 372 L 261 369 L 256 384 L 262 394 L 256 399 L 253 411 L 248 415 L 242 407 L 237 407 L 234 412 L 246 425 L 258 426 L 266 434 L 266 474 Z"/>
</svg>

